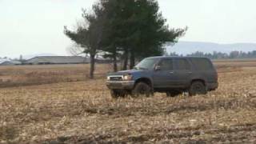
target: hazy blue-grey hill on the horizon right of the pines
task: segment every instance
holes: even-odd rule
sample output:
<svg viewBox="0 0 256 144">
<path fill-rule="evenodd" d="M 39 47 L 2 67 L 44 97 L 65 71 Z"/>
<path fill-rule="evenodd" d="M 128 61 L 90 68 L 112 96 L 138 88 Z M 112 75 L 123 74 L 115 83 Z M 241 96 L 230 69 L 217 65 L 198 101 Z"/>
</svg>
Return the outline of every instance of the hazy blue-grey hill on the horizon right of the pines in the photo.
<svg viewBox="0 0 256 144">
<path fill-rule="evenodd" d="M 256 50 L 256 43 L 234 43 L 234 44 L 218 44 L 214 42 L 185 42 L 181 41 L 174 46 L 167 46 L 168 53 L 176 52 L 178 54 L 191 54 L 196 51 L 212 53 L 214 51 L 222 53 L 230 53 L 231 51 L 252 51 Z"/>
</svg>

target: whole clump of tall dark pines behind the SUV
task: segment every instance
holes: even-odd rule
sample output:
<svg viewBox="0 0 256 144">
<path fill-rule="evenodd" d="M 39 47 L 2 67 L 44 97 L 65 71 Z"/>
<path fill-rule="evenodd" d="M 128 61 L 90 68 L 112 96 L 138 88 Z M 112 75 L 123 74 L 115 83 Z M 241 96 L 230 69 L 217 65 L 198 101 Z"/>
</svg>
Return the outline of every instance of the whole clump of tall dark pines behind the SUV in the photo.
<svg viewBox="0 0 256 144">
<path fill-rule="evenodd" d="M 184 29 L 170 28 L 156 0 L 98 0 L 92 10 L 82 10 L 82 23 L 64 34 L 90 54 L 90 78 L 94 78 L 95 56 L 118 60 L 122 70 L 133 68 L 142 58 L 165 54 L 165 44 L 178 42 Z M 129 67 L 128 67 L 129 66 Z"/>
</svg>

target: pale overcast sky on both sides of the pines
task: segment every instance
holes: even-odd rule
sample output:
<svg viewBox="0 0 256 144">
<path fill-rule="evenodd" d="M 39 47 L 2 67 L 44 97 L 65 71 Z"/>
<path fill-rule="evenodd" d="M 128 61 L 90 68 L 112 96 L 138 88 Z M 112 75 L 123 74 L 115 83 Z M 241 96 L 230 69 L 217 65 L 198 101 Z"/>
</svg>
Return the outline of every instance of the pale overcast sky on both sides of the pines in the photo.
<svg viewBox="0 0 256 144">
<path fill-rule="evenodd" d="M 96 0 L 0 0 L 0 57 L 66 55 L 81 9 Z M 182 41 L 256 42 L 255 0 L 158 0 L 171 27 L 189 30 Z"/>
</svg>

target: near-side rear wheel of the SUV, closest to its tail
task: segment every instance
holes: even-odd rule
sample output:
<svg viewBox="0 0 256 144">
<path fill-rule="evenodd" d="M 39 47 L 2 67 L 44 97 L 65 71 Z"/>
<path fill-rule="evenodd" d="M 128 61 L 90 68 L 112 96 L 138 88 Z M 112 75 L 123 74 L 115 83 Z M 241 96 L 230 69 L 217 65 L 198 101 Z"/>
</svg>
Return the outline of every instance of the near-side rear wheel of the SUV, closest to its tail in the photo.
<svg viewBox="0 0 256 144">
<path fill-rule="evenodd" d="M 196 94 L 206 94 L 206 86 L 201 81 L 192 82 L 189 90 L 190 96 L 194 96 Z"/>
</svg>

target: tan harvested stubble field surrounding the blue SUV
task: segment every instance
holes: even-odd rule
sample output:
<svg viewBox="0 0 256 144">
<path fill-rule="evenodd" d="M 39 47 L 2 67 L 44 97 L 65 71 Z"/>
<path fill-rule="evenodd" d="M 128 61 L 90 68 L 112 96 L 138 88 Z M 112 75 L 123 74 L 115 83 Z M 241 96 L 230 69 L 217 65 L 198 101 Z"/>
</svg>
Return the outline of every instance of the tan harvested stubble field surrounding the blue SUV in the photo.
<svg viewBox="0 0 256 144">
<path fill-rule="evenodd" d="M 118 100 L 107 65 L 94 81 L 88 66 L 0 67 L 0 143 L 255 143 L 256 61 L 215 65 L 220 86 L 209 94 Z"/>
</svg>

